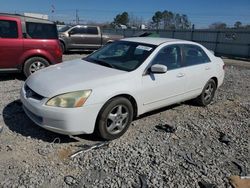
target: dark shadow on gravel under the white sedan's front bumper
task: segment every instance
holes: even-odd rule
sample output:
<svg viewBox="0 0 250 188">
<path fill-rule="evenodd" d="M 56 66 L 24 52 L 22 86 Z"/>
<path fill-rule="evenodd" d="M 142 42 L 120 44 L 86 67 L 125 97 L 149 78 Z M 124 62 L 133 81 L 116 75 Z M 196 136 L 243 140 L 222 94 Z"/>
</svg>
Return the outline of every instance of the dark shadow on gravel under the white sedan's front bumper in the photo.
<svg viewBox="0 0 250 188">
<path fill-rule="evenodd" d="M 77 142 L 78 140 L 70 138 L 68 135 L 57 134 L 43 129 L 32 122 L 25 114 L 20 100 L 9 103 L 3 109 L 3 120 L 5 125 L 13 132 L 21 134 L 24 137 L 42 140 L 44 142 L 53 142 L 55 138 L 60 139 L 60 143 Z M 79 135 L 81 140 L 99 141 L 95 135 Z"/>
</svg>

